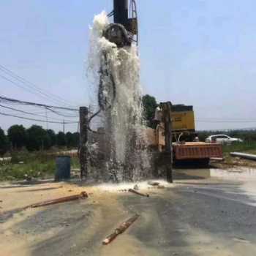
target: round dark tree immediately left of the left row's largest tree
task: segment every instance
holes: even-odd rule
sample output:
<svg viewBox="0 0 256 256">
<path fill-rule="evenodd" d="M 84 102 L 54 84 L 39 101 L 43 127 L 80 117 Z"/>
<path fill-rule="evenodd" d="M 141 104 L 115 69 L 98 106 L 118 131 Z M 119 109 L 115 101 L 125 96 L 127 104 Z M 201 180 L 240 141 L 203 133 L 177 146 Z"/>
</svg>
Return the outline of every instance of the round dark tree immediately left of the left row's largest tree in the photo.
<svg viewBox="0 0 256 256">
<path fill-rule="evenodd" d="M 26 128 L 23 125 L 12 125 L 8 129 L 8 138 L 14 148 L 22 148 L 26 142 Z"/>
</svg>

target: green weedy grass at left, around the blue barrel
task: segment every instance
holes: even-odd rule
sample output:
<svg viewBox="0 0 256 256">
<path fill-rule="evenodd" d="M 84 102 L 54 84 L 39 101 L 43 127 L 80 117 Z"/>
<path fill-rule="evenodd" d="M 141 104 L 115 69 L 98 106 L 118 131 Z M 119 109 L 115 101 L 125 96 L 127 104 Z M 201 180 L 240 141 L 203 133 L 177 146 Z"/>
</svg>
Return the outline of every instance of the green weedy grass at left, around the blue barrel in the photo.
<svg viewBox="0 0 256 256">
<path fill-rule="evenodd" d="M 52 178 L 55 172 L 54 154 L 45 152 L 14 152 L 12 159 L 0 162 L 0 181 L 33 178 Z M 77 156 L 71 156 L 71 168 L 79 168 Z"/>
</svg>

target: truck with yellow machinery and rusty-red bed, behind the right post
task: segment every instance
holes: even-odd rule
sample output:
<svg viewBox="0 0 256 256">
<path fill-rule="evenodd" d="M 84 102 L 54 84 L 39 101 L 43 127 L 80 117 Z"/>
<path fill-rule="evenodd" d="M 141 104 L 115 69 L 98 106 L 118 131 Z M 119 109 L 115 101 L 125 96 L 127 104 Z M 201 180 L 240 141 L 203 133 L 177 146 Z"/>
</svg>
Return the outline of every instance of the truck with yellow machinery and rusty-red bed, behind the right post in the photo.
<svg viewBox="0 0 256 256">
<path fill-rule="evenodd" d="M 195 132 L 195 115 L 191 105 L 172 105 L 172 150 L 173 162 L 190 162 L 207 165 L 211 158 L 222 159 L 220 143 L 205 143 L 198 140 Z M 165 149 L 165 124 L 157 129 L 146 129 L 148 145 L 159 154 Z M 193 160 L 193 161 L 192 161 Z"/>
</svg>

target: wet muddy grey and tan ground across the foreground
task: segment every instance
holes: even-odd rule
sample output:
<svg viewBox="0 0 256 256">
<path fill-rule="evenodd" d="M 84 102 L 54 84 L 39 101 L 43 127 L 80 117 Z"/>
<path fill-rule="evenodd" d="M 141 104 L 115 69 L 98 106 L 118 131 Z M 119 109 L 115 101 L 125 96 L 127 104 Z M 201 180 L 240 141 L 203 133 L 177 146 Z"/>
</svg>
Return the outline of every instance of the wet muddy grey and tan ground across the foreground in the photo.
<svg viewBox="0 0 256 256">
<path fill-rule="evenodd" d="M 256 170 L 177 170 L 165 189 L 135 184 L 1 184 L 0 255 L 256 255 Z M 42 208 L 31 203 L 75 195 Z M 102 241 L 134 214 L 111 244 Z"/>
</svg>

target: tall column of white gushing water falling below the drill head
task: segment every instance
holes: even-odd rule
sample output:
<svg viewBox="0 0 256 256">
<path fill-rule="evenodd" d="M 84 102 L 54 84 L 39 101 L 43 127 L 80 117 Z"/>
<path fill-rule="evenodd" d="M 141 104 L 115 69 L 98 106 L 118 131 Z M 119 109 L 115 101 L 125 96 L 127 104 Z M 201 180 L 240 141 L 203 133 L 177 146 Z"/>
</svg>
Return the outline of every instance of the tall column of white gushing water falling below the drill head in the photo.
<svg viewBox="0 0 256 256">
<path fill-rule="evenodd" d="M 138 49 L 135 44 L 117 48 L 102 37 L 108 24 L 105 12 L 94 17 L 89 50 L 92 84 L 94 91 L 99 91 L 99 105 L 103 101 L 105 106 L 101 106 L 97 124 L 102 128 L 102 134 L 97 135 L 104 166 L 100 176 L 112 181 L 140 180 L 148 175 L 150 165 L 143 132 Z"/>
</svg>

